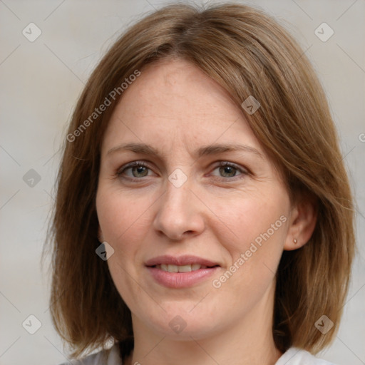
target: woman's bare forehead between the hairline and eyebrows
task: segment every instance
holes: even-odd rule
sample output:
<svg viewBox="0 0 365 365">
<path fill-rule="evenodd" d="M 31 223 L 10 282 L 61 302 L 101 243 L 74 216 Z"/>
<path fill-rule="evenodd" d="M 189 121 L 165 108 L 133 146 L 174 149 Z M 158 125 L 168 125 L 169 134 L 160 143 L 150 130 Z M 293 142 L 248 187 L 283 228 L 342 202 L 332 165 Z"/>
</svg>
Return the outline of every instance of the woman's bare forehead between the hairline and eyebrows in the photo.
<svg viewBox="0 0 365 365">
<path fill-rule="evenodd" d="M 215 142 L 260 148 L 227 91 L 183 60 L 149 65 L 123 93 L 103 144 L 110 148 L 133 141 L 169 149 L 179 143 L 197 147 Z"/>
</svg>

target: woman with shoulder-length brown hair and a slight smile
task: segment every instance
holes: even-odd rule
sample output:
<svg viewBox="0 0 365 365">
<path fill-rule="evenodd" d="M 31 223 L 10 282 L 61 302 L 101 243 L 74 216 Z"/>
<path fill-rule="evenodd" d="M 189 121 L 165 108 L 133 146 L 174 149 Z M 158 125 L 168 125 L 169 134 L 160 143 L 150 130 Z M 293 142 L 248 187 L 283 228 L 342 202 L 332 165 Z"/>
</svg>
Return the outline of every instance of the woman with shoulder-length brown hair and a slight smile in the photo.
<svg viewBox="0 0 365 365">
<path fill-rule="evenodd" d="M 83 364 L 329 364 L 313 354 L 339 327 L 351 199 L 287 32 L 249 6 L 167 6 L 110 48 L 73 114 L 53 322 L 73 356 L 103 347 Z"/>
</svg>

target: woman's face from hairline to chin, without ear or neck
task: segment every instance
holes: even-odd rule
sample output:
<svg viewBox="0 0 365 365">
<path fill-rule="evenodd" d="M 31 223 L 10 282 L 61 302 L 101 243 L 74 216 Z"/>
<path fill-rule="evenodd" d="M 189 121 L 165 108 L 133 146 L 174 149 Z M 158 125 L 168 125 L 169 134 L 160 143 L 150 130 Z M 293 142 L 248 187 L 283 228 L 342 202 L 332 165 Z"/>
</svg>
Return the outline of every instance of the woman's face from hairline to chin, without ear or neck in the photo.
<svg viewBox="0 0 365 365">
<path fill-rule="evenodd" d="M 101 154 L 98 220 L 133 326 L 198 339 L 270 313 L 289 195 L 225 90 L 185 61 L 148 66 Z"/>
</svg>

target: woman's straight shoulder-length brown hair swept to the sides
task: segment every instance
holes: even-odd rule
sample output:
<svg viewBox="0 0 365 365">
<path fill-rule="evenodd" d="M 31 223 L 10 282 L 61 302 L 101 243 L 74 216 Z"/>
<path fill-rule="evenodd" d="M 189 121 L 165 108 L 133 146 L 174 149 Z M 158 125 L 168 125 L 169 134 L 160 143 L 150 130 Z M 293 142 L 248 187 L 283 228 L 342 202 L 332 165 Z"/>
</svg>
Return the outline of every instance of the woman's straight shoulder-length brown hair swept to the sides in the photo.
<svg viewBox="0 0 365 365">
<path fill-rule="evenodd" d="M 349 286 L 355 245 L 349 180 L 327 98 L 306 55 L 271 16 L 242 4 L 165 6 L 120 36 L 88 79 L 63 146 L 48 232 L 53 324 L 73 356 L 108 339 L 133 341 L 130 309 L 95 252 L 101 143 L 123 97 L 121 83 L 169 58 L 200 68 L 239 107 L 254 96 L 260 108 L 242 113 L 279 166 L 291 201 L 315 202 L 312 237 L 279 262 L 272 327 L 280 351 L 297 346 L 315 354 L 334 339 Z M 111 105 L 93 114 L 107 99 Z M 323 314 L 334 322 L 325 335 L 314 326 Z"/>
</svg>

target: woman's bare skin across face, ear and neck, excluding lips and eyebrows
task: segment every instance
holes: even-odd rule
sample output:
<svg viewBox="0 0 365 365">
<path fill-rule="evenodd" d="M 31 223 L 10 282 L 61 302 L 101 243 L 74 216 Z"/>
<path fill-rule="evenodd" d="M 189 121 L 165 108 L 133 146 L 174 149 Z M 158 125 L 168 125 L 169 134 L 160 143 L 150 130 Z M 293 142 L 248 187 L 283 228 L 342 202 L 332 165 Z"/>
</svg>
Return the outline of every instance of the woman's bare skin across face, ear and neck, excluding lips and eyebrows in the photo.
<svg viewBox="0 0 365 365">
<path fill-rule="evenodd" d="M 123 143 L 145 143 L 159 155 L 108 153 Z M 261 156 L 195 155 L 217 143 L 247 145 Z M 148 169 L 123 170 L 133 161 Z M 220 161 L 237 169 L 220 168 Z M 181 187 L 168 180 L 175 169 L 187 177 Z M 132 312 L 135 348 L 126 364 L 269 365 L 279 359 L 272 338 L 275 272 L 283 250 L 309 240 L 316 214 L 308 200 L 291 204 L 244 113 L 215 81 L 177 59 L 143 69 L 110 118 L 96 206 L 99 232 L 115 250 L 110 273 Z M 281 216 L 286 222 L 230 279 L 213 287 L 212 280 Z M 169 289 L 144 265 L 158 255 L 196 255 L 220 268 L 193 287 Z M 186 324 L 179 334 L 169 325 L 177 315 Z"/>
</svg>

